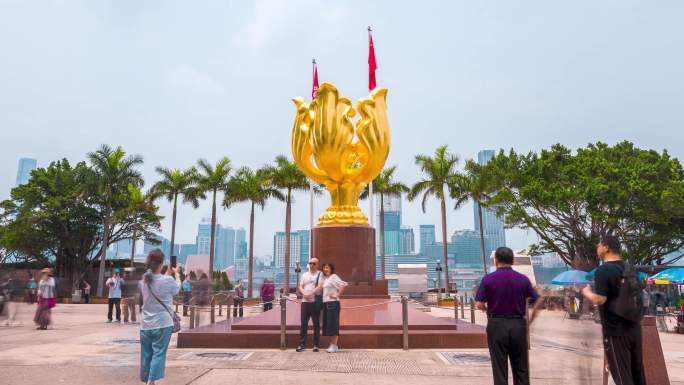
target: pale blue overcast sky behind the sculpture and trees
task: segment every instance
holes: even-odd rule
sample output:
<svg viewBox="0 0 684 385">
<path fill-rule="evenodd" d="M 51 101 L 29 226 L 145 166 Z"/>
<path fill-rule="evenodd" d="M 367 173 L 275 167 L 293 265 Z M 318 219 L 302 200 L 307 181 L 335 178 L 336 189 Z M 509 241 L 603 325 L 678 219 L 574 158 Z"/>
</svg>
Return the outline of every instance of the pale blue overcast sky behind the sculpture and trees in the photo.
<svg viewBox="0 0 684 385">
<path fill-rule="evenodd" d="M 142 155 L 148 185 L 158 165 L 289 156 L 290 99 L 310 97 L 312 57 L 322 82 L 367 94 L 368 25 L 389 88 L 387 164 L 406 183 L 419 179 L 414 155 L 442 144 L 468 159 L 627 139 L 684 158 L 682 20 L 681 1 L 0 0 L 0 198 L 20 157 L 75 162 L 102 143 Z M 297 196 L 294 229 L 307 208 Z M 180 208 L 178 241 L 194 242 L 209 209 Z M 257 212 L 257 255 L 272 253 L 284 212 Z M 219 214 L 248 220 L 246 204 Z M 439 206 L 405 202 L 403 222 L 416 237 L 422 223 L 439 231 Z M 472 206 L 449 211 L 449 233 L 466 228 Z"/>
</svg>

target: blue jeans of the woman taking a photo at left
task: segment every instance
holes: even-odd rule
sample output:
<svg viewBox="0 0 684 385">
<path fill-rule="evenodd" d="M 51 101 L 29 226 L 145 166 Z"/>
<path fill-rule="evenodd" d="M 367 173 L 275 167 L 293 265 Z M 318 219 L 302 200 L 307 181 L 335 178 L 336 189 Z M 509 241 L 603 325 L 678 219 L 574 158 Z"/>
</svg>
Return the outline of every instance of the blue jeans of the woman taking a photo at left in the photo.
<svg viewBox="0 0 684 385">
<path fill-rule="evenodd" d="M 140 331 L 140 381 L 164 378 L 166 350 L 171 341 L 172 326 Z"/>
</svg>

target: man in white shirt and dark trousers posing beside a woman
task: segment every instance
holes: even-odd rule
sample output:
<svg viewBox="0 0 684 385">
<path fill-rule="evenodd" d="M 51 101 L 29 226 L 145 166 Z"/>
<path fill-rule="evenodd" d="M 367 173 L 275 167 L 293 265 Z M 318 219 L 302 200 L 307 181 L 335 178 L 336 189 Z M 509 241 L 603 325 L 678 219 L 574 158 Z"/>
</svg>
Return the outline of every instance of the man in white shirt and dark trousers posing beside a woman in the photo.
<svg viewBox="0 0 684 385">
<path fill-rule="evenodd" d="M 302 274 L 299 280 L 299 292 L 302 294 L 301 324 L 299 327 L 298 352 L 306 348 L 306 333 L 309 328 L 309 318 L 313 323 L 313 351 L 318 351 L 318 341 L 321 336 L 320 320 L 323 294 L 323 274 L 318 271 L 318 259 L 309 260 L 309 271 Z M 318 297 L 318 298 L 317 298 Z"/>
</svg>

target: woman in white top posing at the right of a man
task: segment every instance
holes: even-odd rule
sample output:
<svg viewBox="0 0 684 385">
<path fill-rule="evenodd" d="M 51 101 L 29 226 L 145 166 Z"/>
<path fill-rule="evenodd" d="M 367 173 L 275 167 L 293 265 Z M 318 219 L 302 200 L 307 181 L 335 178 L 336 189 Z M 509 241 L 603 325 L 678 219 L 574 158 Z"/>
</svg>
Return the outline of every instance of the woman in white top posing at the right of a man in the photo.
<svg viewBox="0 0 684 385">
<path fill-rule="evenodd" d="M 335 274 L 335 265 L 323 264 L 323 335 L 331 337 L 328 353 L 339 351 L 340 296 L 347 283 Z"/>
</svg>

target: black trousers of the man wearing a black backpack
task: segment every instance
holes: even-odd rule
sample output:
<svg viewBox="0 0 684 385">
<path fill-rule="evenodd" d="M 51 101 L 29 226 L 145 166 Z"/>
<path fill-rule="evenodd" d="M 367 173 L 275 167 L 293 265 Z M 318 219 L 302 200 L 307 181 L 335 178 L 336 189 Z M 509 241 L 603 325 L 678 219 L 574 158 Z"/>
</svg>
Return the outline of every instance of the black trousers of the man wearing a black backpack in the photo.
<svg viewBox="0 0 684 385">
<path fill-rule="evenodd" d="M 616 385 L 644 385 L 644 365 L 641 356 L 641 334 L 605 336 L 603 348 L 610 376 Z"/>
</svg>

